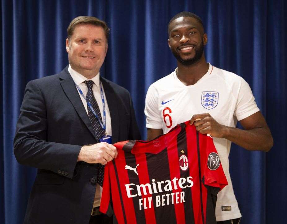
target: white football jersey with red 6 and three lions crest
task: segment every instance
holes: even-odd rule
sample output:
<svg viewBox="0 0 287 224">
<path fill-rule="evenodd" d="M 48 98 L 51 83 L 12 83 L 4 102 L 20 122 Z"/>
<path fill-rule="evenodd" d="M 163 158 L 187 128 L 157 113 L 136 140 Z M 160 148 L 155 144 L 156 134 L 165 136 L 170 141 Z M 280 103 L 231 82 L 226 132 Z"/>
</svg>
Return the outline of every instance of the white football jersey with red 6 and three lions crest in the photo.
<svg viewBox="0 0 287 224">
<path fill-rule="evenodd" d="M 145 102 L 146 127 L 167 133 L 175 125 L 192 118 L 193 114 L 209 113 L 218 123 L 236 127 L 242 120 L 259 111 L 248 83 L 240 76 L 209 65 L 209 70 L 194 85 L 185 86 L 176 75 L 153 83 Z M 228 181 L 218 194 L 217 221 L 241 217 L 229 174 L 228 155 L 231 141 L 213 138 Z"/>
</svg>

